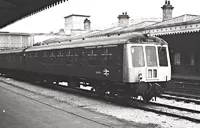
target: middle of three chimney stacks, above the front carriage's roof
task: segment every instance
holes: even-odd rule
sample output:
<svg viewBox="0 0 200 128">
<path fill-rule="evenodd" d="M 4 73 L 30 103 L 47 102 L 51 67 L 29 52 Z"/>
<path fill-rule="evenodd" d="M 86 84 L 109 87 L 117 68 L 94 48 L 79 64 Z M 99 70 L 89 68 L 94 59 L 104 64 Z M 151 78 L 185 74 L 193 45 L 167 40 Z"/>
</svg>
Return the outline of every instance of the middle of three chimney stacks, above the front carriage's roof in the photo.
<svg viewBox="0 0 200 128">
<path fill-rule="evenodd" d="M 119 15 L 117 17 L 119 19 L 119 26 L 121 27 L 127 27 L 129 26 L 129 16 L 127 15 L 127 12 L 122 13 L 122 15 Z"/>
</svg>

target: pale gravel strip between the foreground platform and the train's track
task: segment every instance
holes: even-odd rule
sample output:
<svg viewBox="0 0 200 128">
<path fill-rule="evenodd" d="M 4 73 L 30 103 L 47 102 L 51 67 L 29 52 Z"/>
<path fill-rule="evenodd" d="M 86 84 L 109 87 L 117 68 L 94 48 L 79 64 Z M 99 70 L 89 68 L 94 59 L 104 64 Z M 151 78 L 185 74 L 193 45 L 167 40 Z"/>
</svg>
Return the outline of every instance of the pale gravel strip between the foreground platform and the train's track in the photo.
<svg viewBox="0 0 200 128">
<path fill-rule="evenodd" d="M 32 84 L 28 84 L 25 82 L 18 82 L 9 78 L 6 79 L 3 77 L 0 77 L 0 80 L 6 81 L 7 83 L 12 83 L 16 87 L 24 88 L 29 91 L 35 92 L 37 94 L 49 96 L 59 101 L 81 107 L 83 109 L 88 109 L 90 111 L 107 114 L 107 115 L 110 115 L 119 119 L 124 119 L 127 121 L 132 121 L 132 122 L 141 123 L 141 124 L 149 124 L 149 126 L 153 124 L 158 124 L 158 128 L 170 128 L 170 127 L 172 128 L 199 128 L 200 127 L 200 124 L 193 123 L 187 120 L 159 115 L 152 112 L 147 112 L 147 111 L 134 109 L 130 107 L 110 104 L 108 102 L 98 101 L 92 98 L 90 99 L 88 97 L 80 97 L 76 94 L 71 94 L 67 92 L 64 93 L 64 92 L 54 91 L 51 89 L 34 86 Z M 7 86 L 7 88 L 9 88 L 9 86 Z"/>
</svg>

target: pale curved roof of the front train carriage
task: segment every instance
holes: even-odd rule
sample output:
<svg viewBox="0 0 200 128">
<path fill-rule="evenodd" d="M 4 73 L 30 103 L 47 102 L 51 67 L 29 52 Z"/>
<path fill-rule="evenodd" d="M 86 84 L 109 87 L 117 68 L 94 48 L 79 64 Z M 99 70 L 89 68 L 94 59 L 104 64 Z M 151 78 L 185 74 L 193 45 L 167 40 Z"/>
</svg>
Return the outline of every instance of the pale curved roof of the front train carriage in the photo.
<svg viewBox="0 0 200 128">
<path fill-rule="evenodd" d="M 81 38 L 76 40 L 67 40 L 61 43 L 53 43 L 49 45 L 34 46 L 26 49 L 29 51 L 42 51 L 51 49 L 63 49 L 63 48 L 76 48 L 76 47 L 91 47 L 91 46 L 103 46 L 103 45 L 117 45 L 125 43 L 154 43 L 166 45 L 167 43 L 158 37 L 147 37 L 144 34 L 123 34 L 112 35 L 107 37 L 95 37 L 95 38 Z"/>
</svg>

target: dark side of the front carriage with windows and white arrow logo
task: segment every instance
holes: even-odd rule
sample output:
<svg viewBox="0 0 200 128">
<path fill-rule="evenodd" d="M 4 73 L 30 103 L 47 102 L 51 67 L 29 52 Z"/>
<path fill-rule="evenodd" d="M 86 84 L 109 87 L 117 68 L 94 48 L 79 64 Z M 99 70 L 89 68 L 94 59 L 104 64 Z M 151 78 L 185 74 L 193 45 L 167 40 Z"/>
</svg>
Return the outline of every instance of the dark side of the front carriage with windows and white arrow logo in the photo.
<svg viewBox="0 0 200 128">
<path fill-rule="evenodd" d="M 30 51 L 25 53 L 30 72 L 122 82 L 123 44 Z"/>
</svg>

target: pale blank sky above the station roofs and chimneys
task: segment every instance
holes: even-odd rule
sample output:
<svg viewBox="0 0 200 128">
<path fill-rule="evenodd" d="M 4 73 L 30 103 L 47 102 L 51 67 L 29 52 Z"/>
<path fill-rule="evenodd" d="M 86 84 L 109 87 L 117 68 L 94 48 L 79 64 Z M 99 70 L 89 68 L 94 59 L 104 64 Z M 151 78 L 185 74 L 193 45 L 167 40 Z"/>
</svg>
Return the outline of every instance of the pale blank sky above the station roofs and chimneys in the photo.
<svg viewBox="0 0 200 128">
<path fill-rule="evenodd" d="M 199 0 L 170 0 L 173 17 L 200 15 Z M 104 29 L 118 22 L 118 15 L 127 12 L 130 19 L 162 18 L 165 0 L 68 0 L 50 9 L 17 21 L 0 31 L 49 33 L 64 29 L 64 17 L 89 15 L 92 29 Z"/>
</svg>

